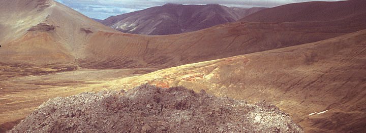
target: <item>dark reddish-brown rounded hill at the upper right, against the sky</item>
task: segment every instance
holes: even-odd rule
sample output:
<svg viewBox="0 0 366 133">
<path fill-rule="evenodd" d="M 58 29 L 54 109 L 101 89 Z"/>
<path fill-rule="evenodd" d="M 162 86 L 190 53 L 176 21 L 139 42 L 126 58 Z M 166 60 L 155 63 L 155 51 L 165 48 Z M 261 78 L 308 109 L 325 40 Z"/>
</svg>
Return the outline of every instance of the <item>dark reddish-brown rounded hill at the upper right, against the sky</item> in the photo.
<svg viewBox="0 0 366 133">
<path fill-rule="evenodd" d="M 295 3 L 262 10 L 240 21 L 303 22 L 362 19 L 366 22 L 365 7 L 366 1 L 363 0 Z"/>
</svg>

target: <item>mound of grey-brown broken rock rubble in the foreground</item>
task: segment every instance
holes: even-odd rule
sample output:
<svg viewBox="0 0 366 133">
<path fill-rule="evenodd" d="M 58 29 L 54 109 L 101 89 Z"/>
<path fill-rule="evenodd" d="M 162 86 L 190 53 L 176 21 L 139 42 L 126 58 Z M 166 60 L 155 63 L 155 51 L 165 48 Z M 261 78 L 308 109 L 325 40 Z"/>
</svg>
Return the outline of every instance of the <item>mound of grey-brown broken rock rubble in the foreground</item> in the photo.
<svg viewBox="0 0 366 133">
<path fill-rule="evenodd" d="M 184 87 L 141 85 L 42 104 L 10 132 L 303 132 L 288 114 Z"/>
</svg>

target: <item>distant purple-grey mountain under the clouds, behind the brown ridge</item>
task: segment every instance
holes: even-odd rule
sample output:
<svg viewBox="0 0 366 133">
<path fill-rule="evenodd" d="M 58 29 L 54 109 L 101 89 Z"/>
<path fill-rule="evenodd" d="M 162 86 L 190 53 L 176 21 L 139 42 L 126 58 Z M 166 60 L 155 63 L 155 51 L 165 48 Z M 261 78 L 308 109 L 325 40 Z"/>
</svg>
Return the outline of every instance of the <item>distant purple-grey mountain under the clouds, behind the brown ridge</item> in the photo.
<svg viewBox="0 0 366 133">
<path fill-rule="evenodd" d="M 166 4 L 112 16 L 100 22 L 125 33 L 168 35 L 234 22 L 262 9 L 264 8 L 228 8 L 216 4 Z"/>
</svg>

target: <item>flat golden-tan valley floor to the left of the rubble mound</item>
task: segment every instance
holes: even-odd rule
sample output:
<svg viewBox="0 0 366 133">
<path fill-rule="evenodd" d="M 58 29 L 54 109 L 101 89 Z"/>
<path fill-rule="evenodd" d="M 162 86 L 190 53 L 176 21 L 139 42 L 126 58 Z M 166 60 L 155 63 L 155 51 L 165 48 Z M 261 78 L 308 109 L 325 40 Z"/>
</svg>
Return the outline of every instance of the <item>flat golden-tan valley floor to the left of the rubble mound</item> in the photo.
<svg viewBox="0 0 366 133">
<path fill-rule="evenodd" d="M 59 72 L 55 72 L 57 69 L 51 67 L 0 67 L 0 132 L 18 123 L 50 98 L 98 92 L 103 88 L 88 89 L 87 86 L 159 69 L 81 69 L 64 72 L 65 69 L 59 69 Z"/>
</svg>

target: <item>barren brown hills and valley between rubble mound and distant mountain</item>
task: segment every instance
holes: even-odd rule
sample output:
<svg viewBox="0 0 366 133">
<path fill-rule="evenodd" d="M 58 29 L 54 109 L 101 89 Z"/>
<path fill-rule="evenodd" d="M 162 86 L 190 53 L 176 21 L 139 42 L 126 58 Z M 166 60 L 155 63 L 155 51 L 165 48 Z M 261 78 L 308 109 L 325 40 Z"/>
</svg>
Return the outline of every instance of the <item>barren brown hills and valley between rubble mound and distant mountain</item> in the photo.
<svg viewBox="0 0 366 133">
<path fill-rule="evenodd" d="M 306 132 L 362 132 L 365 3 L 290 4 L 199 31 L 147 36 L 52 0 L 0 1 L 0 132 L 50 98 L 143 83 L 265 100 Z M 309 10 L 281 15 L 299 7 Z M 324 17 L 322 7 L 340 13 Z"/>
</svg>

